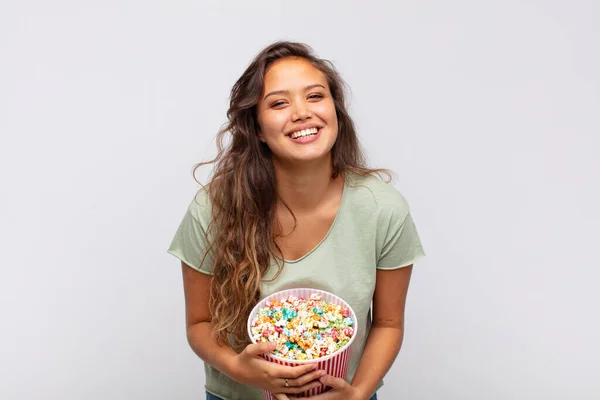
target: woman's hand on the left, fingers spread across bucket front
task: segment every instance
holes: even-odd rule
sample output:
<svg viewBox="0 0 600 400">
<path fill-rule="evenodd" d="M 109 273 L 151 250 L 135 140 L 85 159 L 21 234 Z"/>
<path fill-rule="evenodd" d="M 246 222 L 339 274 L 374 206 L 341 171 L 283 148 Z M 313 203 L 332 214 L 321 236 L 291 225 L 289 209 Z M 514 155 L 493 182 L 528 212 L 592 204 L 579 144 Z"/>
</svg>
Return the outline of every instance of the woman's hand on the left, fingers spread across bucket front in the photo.
<svg viewBox="0 0 600 400">
<path fill-rule="evenodd" d="M 249 344 L 236 356 L 233 378 L 240 383 L 266 389 L 269 392 L 297 394 L 321 386 L 319 378 L 325 371 L 316 364 L 287 367 L 260 357 L 274 349 L 275 343 Z"/>
</svg>

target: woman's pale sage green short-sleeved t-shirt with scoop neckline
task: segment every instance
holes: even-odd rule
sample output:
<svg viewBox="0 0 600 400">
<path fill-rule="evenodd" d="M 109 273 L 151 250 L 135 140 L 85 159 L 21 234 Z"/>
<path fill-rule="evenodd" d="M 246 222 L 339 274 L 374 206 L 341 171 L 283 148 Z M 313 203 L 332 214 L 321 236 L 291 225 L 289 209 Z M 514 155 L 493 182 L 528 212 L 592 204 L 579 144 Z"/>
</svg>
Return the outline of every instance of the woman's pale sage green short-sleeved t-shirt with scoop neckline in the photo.
<svg viewBox="0 0 600 400">
<path fill-rule="evenodd" d="M 211 274 L 212 258 L 200 265 L 211 221 L 206 190 L 190 204 L 169 247 L 169 253 L 192 268 Z M 346 174 L 341 203 L 327 235 L 309 253 L 285 260 L 279 277 L 261 284 L 261 298 L 280 290 L 311 287 L 344 299 L 360 327 L 352 344 L 348 382 L 358 367 L 371 328 L 371 302 L 376 269 L 396 269 L 425 256 L 404 197 L 376 177 Z M 277 272 L 273 262 L 265 278 Z M 237 383 L 207 363 L 206 390 L 224 400 L 262 400 L 262 390 Z M 379 387 L 383 382 L 380 382 Z"/>
</svg>

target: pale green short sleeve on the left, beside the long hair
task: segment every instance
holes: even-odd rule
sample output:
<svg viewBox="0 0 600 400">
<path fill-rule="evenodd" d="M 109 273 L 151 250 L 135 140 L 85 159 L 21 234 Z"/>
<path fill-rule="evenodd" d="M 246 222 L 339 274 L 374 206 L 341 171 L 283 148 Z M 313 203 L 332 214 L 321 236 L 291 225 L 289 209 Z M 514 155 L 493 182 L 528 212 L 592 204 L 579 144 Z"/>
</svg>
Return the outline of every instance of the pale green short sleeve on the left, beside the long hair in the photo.
<svg viewBox="0 0 600 400">
<path fill-rule="evenodd" d="M 209 246 L 207 231 L 212 219 L 212 210 L 207 197 L 205 190 L 201 190 L 189 205 L 175 232 L 168 253 L 190 267 L 212 275 L 214 252 L 211 250 L 206 253 Z"/>
</svg>

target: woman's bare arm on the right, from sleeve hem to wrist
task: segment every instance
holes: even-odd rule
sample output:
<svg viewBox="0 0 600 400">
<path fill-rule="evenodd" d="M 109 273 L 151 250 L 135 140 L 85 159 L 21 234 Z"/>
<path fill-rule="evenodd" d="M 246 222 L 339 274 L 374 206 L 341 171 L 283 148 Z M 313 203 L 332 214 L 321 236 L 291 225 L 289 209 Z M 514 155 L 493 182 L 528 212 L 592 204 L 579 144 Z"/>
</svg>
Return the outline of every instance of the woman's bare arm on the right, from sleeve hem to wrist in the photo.
<svg viewBox="0 0 600 400">
<path fill-rule="evenodd" d="M 362 398 L 373 395 L 392 366 L 404 335 L 404 308 L 412 264 L 393 270 L 377 270 L 373 295 L 373 325 L 352 379 Z"/>
</svg>

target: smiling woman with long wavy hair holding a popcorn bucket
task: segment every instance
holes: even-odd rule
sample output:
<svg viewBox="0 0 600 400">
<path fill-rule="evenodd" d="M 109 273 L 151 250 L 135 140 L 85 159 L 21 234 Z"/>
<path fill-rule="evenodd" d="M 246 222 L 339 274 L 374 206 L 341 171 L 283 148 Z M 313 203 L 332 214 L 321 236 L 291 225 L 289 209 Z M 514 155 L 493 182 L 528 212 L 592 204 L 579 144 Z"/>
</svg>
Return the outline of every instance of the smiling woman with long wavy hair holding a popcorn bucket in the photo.
<svg viewBox="0 0 600 400">
<path fill-rule="evenodd" d="M 231 91 L 212 178 L 169 248 L 182 262 L 187 337 L 208 399 L 262 399 L 261 389 L 285 399 L 321 384 L 331 390 L 315 399 L 376 398 L 400 350 L 424 253 L 406 201 L 379 179 L 387 171 L 365 166 L 343 89 L 308 46 L 277 42 Z M 249 344 L 253 306 L 292 287 L 332 292 L 356 312 L 364 329 L 347 380 L 269 363 L 257 357 L 269 344 Z"/>
</svg>

